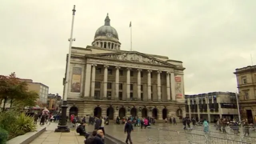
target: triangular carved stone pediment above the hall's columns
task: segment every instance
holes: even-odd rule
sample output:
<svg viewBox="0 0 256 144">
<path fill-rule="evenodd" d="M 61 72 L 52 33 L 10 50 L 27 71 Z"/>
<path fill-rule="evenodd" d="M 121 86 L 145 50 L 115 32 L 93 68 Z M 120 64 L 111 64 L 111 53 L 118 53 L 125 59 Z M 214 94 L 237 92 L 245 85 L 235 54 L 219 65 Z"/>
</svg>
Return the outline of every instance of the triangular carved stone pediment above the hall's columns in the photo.
<svg viewBox="0 0 256 144">
<path fill-rule="evenodd" d="M 139 62 L 139 63 L 147 63 L 147 64 L 156 64 L 156 65 L 164 65 L 164 66 L 174 66 L 168 62 L 164 62 L 162 60 L 158 60 L 146 54 L 142 54 L 140 52 L 132 51 L 132 52 L 115 52 L 115 53 L 104 53 L 104 54 L 90 54 L 86 55 L 86 57 L 94 57 L 94 58 L 106 58 L 112 60 L 120 60 L 120 61 L 130 61 L 130 62 Z"/>
</svg>

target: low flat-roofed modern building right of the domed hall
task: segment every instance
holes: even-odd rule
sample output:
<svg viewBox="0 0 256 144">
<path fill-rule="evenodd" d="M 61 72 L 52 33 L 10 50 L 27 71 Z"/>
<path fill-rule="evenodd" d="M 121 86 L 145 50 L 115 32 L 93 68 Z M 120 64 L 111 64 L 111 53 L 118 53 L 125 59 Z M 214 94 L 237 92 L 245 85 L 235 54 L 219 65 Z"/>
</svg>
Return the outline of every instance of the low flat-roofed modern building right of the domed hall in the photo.
<svg viewBox="0 0 256 144">
<path fill-rule="evenodd" d="M 238 96 L 239 97 L 239 96 Z M 214 118 L 237 118 L 236 93 L 209 92 L 208 94 L 185 95 L 186 116 L 197 120 Z"/>
</svg>

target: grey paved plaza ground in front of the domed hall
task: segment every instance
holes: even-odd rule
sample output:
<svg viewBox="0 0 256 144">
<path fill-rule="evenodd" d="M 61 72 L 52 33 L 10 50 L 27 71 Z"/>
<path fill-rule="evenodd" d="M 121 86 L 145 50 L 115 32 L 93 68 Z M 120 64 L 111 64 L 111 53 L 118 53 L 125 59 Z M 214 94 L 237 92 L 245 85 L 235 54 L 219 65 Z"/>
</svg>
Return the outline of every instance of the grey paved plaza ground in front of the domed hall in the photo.
<svg viewBox="0 0 256 144">
<path fill-rule="evenodd" d="M 75 128 L 70 126 L 70 133 L 55 133 L 54 130 L 57 127 L 57 123 L 52 123 L 46 126 L 46 132 L 44 132 L 41 136 L 36 138 L 30 144 L 84 144 L 84 137 L 79 136 L 76 133 Z M 164 128 L 168 130 L 160 130 L 159 128 Z M 94 126 L 86 126 L 86 130 L 88 132 L 92 132 L 94 130 Z M 240 141 L 240 137 L 231 134 L 223 134 L 218 132 L 213 125 L 210 125 L 210 130 L 212 131 L 210 135 L 212 136 L 211 144 L 226 144 L 226 140 L 232 139 Z M 178 132 L 179 131 L 179 132 Z M 230 132 L 230 128 L 227 128 L 227 131 Z M 124 125 L 108 125 L 105 126 L 106 134 L 113 136 L 114 138 L 125 141 L 126 134 L 124 134 Z M 139 127 L 134 127 L 134 132 L 132 132 L 132 140 L 134 144 L 154 144 L 156 142 L 162 142 L 163 144 L 187 144 L 188 141 L 194 142 L 197 144 L 205 144 L 206 135 L 203 132 L 203 127 L 194 127 L 192 131 L 184 131 L 182 124 L 178 124 L 173 126 L 172 124 L 156 124 L 152 125 L 152 128 L 141 129 Z M 256 133 L 250 134 L 251 136 L 256 137 Z M 253 144 L 256 142 L 256 139 L 246 140 L 252 142 Z M 229 143 L 227 143 L 229 144 Z M 250 144 L 250 143 L 239 143 L 239 144 Z"/>
</svg>

